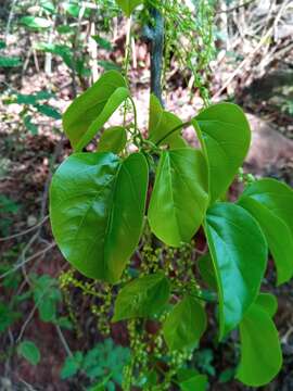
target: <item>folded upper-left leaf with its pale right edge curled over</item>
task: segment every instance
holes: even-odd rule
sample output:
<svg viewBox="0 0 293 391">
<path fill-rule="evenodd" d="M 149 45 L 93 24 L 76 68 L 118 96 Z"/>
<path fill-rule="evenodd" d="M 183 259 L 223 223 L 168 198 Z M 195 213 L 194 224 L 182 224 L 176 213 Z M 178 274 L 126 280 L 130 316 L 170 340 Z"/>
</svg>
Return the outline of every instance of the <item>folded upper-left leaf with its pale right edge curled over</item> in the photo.
<svg viewBox="0 0 293 391">
<path fill-rule="evenodd" d="M 126 87 L 123 76 L 110 71 L 73 101 L 63 115 L 63 127 L 75 150 L 80 151 L 128 98 Z"/>
</svg>

